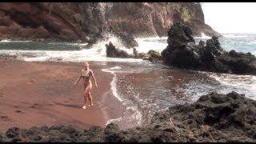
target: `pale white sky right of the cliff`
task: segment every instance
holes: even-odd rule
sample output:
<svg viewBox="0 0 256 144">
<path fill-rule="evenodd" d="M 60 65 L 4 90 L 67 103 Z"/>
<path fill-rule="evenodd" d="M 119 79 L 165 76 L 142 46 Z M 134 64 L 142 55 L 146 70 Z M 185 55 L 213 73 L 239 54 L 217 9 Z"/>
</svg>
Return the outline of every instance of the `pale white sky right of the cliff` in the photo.
<svg viewBox="0 0 256 144">
<path fill-rule="evenodd" d="M 201 2 L 205 22 L 218 33 L 256 34 L 256 2 Z"/>
</svg>

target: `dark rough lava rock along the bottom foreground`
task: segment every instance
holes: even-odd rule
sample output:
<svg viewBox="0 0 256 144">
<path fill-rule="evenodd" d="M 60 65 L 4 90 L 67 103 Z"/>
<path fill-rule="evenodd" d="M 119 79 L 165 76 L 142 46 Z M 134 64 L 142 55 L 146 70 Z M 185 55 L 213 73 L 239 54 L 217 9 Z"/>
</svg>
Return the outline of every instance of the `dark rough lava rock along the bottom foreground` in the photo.
<svg viewBox="0 0 256 144">
<path fill-rule="evenodd" d="M 193 104 L 172 106 L 154 114 L 150 125 L 119 130 L 91 126 L 10 128 L 0 142 L 256 142 L 256 102 L 244 94 L 215 92 Z"/>
</svg>

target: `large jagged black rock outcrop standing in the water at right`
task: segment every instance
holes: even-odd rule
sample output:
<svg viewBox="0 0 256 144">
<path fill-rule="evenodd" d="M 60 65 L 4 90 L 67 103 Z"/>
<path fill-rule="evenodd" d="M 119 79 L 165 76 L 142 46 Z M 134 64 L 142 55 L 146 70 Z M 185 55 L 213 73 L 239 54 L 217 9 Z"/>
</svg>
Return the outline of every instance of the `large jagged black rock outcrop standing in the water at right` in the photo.
<svg viewBox="0 0 256 144">
<path fill-rule="evenodd" d="M 175 23 L 168 31 L 168 46 L 162 51 L 163 61 L 170 66 L 232 74 L 256 74 L 256 58 L 234 50 L 226 52 L 213 36 L 197 45 L 189 26 Z"/>
</svg>

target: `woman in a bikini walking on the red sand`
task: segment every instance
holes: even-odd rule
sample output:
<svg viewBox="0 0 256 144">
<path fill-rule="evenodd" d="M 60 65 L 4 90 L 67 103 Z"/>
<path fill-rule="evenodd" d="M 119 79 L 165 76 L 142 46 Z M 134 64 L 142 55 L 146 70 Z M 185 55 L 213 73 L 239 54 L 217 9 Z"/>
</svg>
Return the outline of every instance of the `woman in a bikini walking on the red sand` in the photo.
<svg viewBox="0 0 256 144">
<path fill-rule="evenodd" d="M 91 97 L 90 94 L 90 90 L 92 88 L 92 84 L 90 82 L 90 76 L 94 79 L 94 84 L 95 87 L 97 88 L 97 82 L 96 82 L 96 78 L 94 77 L 94 72 L 93 70 L 89 69 L 89 63 L 88 62 L 84 62 L 84 66 L 85 68 L 81 70 L 81 74 L 79 76 L 79 78 L 74 82 L 74 86 L 76 86 L 76 84 L 80 81 L 80 79 L 83 79 L 83 84 L 84 84 L 84 88 L 85 88 L 85 92 L 84 92 L 84 98 L 85 98 L 85 106 L 82 106 L 83 109 L 86 109 L 86 102 L 87 102 L 87 98 L 90 101 L 90 105 L 89 106 L 93 106 L 93 98 Z"/>
</svg>

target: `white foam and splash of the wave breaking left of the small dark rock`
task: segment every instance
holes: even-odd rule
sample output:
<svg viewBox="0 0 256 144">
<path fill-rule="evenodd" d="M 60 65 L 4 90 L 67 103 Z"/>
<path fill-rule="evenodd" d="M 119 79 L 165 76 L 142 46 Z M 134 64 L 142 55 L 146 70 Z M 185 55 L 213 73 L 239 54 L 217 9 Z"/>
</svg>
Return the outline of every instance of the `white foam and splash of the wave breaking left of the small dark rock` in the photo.
<svg viewBox="0 0 256 144">
<path fill-rule="evenodd" d="M 106 43 L 112 42 L 121 50 L 126 50 L 128 54 L 132 54 L 132 49 L 126 49 L 118 38 L 110 37 L 107 40 L 97 42 L 90 49 L 83 50 L 0 50 L 0 54 L 17 55 L 19 59 L 28 62 L 44 62 L 44 61 L 62 61 L 62 62 L 142 62 L 142 59 L 134 58 L 107 58 Z M 58 44 L 52 42 L 51 44 Z M 65 45 L 86 45 L 86 43 L 65 43 Z"/>
</svg>

